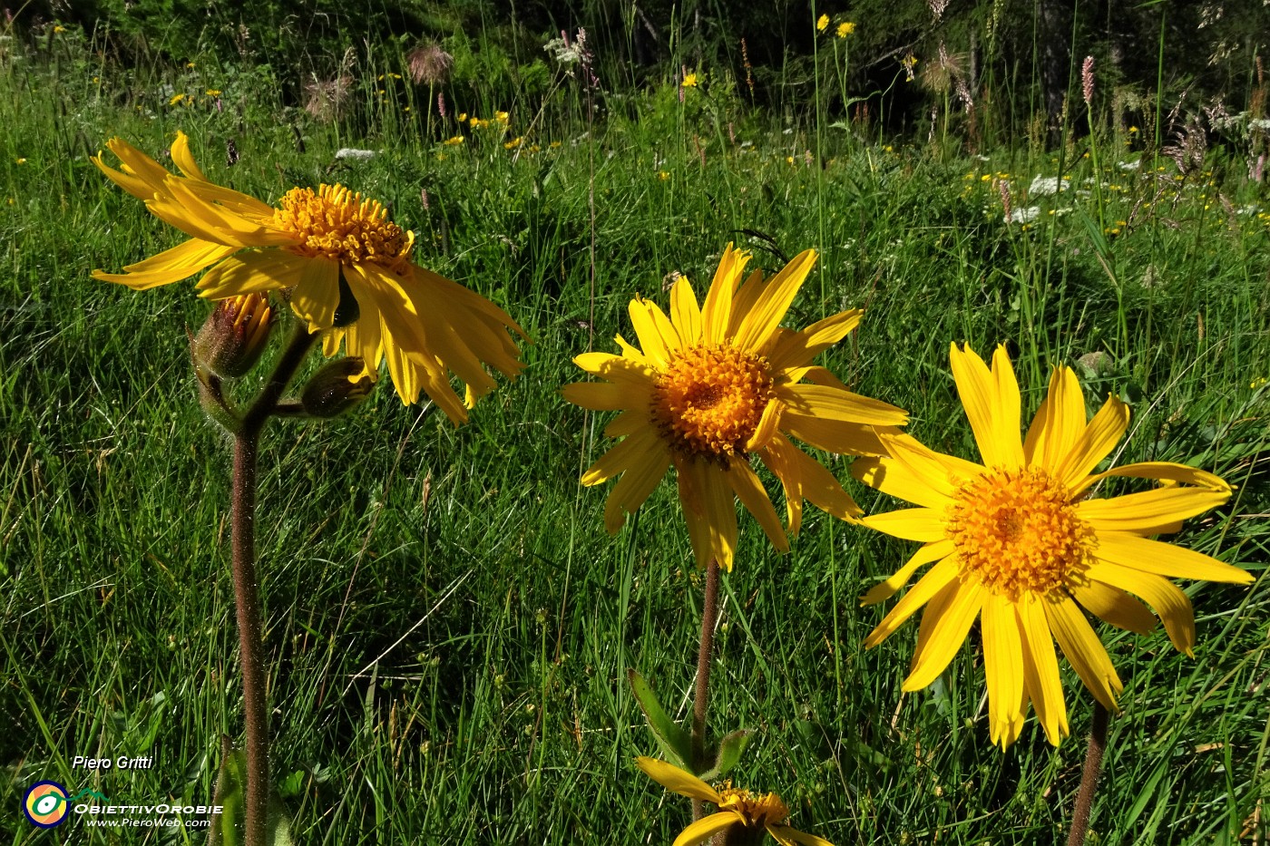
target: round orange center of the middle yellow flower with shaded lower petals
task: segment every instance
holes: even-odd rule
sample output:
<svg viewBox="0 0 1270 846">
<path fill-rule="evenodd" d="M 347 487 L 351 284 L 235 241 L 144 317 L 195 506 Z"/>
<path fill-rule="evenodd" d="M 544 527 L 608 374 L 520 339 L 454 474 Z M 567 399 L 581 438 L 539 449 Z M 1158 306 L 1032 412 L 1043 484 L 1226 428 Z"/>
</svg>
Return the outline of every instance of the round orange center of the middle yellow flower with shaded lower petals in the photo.
<svg viewBox="0 0 1270 846">
<path fill-rule="evenodd" d="M 653 420 L 686 456 L 744 452 L 773 393 L 767 359 L 725 344 L 674 353 L 653 389 Z"/>
</svg>

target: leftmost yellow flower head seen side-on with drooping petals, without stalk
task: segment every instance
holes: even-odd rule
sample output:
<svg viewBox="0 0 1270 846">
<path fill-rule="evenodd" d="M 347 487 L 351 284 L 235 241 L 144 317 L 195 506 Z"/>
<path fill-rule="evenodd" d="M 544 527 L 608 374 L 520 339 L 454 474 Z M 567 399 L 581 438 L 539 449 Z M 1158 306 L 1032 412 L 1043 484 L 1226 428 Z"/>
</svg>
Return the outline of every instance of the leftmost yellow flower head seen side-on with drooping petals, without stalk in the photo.
<svg viewBox="0 0 1270 846">
<path fill-rule="evenodd" d="M 386 359 L 403 403 L 413 403 L 422 390 L 455 423 L 465 422 L 466 408 L 494 389 L 483 365 L 504 376 L 521 370 L 507 333 L 526 337 L 516 321 L 474 291 L 414 264 L 414 235 L 387 220 L 373 199 L 342 185 L 292 188 L 274 208 L 208 182 L 183 132 L 171 145 L 183 175 L 119 138 L 107 146 L 122 169 L 102 156 L 94 164 L 190 238 L 124 273 L 95 271 L 94 277 L 142 291 L 206 269 L 198 290 L 210 300 L 288 291 L 291 309 L 309 332 L 324 333 L 326 356 L 343 343 L 347 354 L 363 359 L 351 382 L 375 379 Z M 451 387 L 451 371 L 467 384 L 466 403 Z"/>
</svg>

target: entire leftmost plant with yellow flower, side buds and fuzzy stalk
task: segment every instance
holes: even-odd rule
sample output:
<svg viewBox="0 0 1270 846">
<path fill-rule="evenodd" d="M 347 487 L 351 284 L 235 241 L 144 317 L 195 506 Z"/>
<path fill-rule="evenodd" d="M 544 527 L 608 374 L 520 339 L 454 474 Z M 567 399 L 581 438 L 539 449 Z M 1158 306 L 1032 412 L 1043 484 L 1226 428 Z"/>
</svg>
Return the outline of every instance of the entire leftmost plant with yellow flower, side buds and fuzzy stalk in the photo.
<svg viewBox="0 0 1270 846">
<path fill-rule="evenodd" d="M 480 295 L 411 259 L 414 235 L 382 206 L 342 185 L 292 188 L 277 206 L 217 185 L 203 175 L 178 133 L 171 160 L 179 174 L 113 138 L 119 166 L 94 164 L 156 217 L 188 239 L 131 264 L 95 271 L 108 282 L 145 291 L 202 274 L 199 296 L 217 301 L 192 339 L 204 410 L 234 437 L 231 546 L 243 667 L 246 785 L 244 841 L 262 846 L 269 795 L 268 700 L 259 579 L 255 570 L 255 476 L 260 433 L 273 417 L 337 417 L 363 400 L 387 365 L 403 403 L 425 394 L 455 424 L 495 386 L 486 366 L 514 376 L 521 328 Z M 250 372 L 269 343 L 281 297 L 293 312 L 291 339 L 263 387 L 239 405 L 226 382 Z M 331 362 L 291 398 L 284 396 L 320 342 Z M 466 384 L 460 399 L 451 376 Z M 222 767 L 226 762 L 222 762 Z"/>
</svg>

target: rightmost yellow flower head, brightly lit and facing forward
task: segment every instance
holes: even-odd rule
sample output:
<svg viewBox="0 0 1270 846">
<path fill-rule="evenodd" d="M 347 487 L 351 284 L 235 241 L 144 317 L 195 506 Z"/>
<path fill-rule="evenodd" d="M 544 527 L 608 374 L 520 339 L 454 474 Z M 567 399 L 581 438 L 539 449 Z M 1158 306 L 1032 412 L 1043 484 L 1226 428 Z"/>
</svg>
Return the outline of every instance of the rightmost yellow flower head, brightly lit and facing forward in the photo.
<svg viewBox="0 0 1270 846">
<path fill-rule="evenodd" d="M 1049 393 L 1026 437 L 1020 437 L 1020 395 L 1001 347 L 992 368 L 969 347 L 951 349 L 952 379 L 983 465 L 927 450 L 913 438 L 883 433 L 889 457 L 857 461 L 852 473 L 917 508 L 872 514 L 864 523 L 921 541 L 904 567 L 864 597 L 880 602 L 923 565 L 922 579 L 865 639 L 875 647 L 926 606 L 906 691 L 944 672 L 978 617 L 988 677 L 988 727 L 1002 748 L 1019 737 L 1029 702 L 1054 746 L 1067 735 L 1067 706 L 1054 640 L 1086 687 L 1107 709 L 1120 678 L 1086 619 L 1086 611 L 1128 631 L 1147 633 L 1154 607 L 1173 645 L 1191 654 L 1195 617 L 1168 578 L 1246 584 L 1252 577 L 1208 555 L 1151 540 L 1182 520 L 1224 503 L 1231 487 L 1181 464 L 1149 461 L 1092 473 L 1129 426 L 1115 398 L 1086 420 L 1076 375 L 1054 371 Z M 1154 479 L 1160 488 L 1093 498 L 1111 476 Z M 1082 611 L 1083 608 L 1083 611 Z"/>
</svg>

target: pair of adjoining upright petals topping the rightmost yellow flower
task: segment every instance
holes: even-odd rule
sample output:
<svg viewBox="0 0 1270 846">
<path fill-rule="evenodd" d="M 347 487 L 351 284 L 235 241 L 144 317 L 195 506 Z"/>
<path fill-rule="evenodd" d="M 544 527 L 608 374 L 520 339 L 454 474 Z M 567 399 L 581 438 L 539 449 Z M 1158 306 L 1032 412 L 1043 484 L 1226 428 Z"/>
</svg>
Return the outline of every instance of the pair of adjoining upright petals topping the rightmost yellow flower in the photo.
<svg viewBox="0 0 1270 846">
<path fill-rule="evenodd" d="M 1020 466 L 1024 451 L 1019 437 L 1019 382 L 1010 357 L 998 347 L 992 358 L 993 370 L 989 371 L 969 344 L 964 352 L 952 344 L 949 358 L 983 464 L 989 467 Z"/>
</svg>

